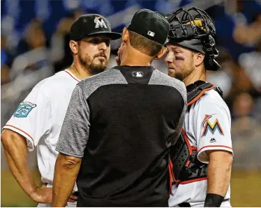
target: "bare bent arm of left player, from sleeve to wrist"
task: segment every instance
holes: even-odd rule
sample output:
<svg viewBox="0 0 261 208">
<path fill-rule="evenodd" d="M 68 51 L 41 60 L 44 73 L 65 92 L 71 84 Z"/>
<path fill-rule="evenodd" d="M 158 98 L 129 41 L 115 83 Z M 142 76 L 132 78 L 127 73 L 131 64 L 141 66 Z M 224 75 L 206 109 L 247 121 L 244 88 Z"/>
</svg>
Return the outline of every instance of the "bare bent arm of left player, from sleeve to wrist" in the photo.
<svg viewBox="0 0 261 208">
<path fill-rule="evenodd" d="M 27 142 L 20 134 L 4 130 L 1 134 L 3 150 L 11 173 L 14 175 L 18 184 L 27 195 L 34 199 L 37 186 L 33 182 L 31 171 L 27 165 Z"/>
</svg>

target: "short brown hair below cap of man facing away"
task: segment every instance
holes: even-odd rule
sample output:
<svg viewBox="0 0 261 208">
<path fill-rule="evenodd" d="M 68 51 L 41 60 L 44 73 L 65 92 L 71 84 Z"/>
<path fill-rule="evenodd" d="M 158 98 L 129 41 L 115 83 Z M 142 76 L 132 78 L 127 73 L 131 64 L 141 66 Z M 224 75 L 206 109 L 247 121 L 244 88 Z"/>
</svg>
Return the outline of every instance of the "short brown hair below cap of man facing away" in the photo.
<svg viewBox="0 0 261 208">
<path fill-rule="evenodd" d="M 130 45 L 141 51 L 143 54 L 148 56 L 156 56 L 163 48 L 163 45 L 160 43 L 155 42 L 154 40 L 149 40 L 138 33 L 128 30 L 128 34 L 130 37 Z"/>
</svg>

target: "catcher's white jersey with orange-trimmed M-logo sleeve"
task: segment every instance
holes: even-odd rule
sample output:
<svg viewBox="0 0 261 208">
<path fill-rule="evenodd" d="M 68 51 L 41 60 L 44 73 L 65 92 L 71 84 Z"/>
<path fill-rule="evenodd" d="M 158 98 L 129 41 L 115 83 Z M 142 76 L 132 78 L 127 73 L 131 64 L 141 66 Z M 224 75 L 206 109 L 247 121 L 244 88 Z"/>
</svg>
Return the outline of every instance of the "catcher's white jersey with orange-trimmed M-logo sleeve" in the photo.
<svg viewBox="0 0 261 208">
<path fill-rule="evenodd" d="M 207 91 L 186 112 L 184 130 L 191 146 L 197 147 L 197 159 L 209 163 L 206 150 L 232 152 L 231 117 L 228 106 L 216 90 Z M 174 184 L 169 199 L 170 207 L 189 202 L 191 207 L 204 207 L 207 179 L 188 184 Z M 230 207 L 230 187 L 221 207 Z"/>
</svg>

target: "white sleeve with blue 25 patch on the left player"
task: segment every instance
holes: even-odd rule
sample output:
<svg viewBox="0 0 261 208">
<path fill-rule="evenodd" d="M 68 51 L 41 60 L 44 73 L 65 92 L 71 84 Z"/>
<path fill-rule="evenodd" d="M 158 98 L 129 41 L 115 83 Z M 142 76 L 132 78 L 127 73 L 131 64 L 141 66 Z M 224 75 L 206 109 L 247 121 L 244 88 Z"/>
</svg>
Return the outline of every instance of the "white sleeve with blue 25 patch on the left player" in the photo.
<svg viewBox="0 0 261 208">
<path fill-rule="evenodd" d="M 27 138 L 27 147 L 33 151 L 40 138 L 50 133 L 51 104 L 45 93 L 36 85 L 19 104 L 3 129 L 11 129 Z"/>
</svg>

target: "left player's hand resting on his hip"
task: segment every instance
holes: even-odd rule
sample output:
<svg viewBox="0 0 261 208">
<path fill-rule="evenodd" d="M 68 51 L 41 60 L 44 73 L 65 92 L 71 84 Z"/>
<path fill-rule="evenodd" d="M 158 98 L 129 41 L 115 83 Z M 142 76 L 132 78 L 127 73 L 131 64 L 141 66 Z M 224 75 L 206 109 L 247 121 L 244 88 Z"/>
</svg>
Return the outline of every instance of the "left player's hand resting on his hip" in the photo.
<svg viewBox="0 0 261 208">
<path fill-rule="evenodd" d="M 31 198 L 38 203 L 52 203 L 52 187 L 45 184 L 40 188 L 37 187 L 36 192 L 31 194 Z"/>
</svg>

